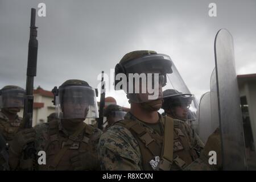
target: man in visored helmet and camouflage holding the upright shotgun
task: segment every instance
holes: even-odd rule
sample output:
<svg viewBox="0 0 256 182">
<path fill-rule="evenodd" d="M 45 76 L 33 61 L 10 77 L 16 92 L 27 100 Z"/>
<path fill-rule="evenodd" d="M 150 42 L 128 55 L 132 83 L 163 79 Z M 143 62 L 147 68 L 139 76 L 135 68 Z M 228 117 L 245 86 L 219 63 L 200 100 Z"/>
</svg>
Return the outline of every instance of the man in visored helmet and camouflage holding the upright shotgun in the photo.
<svg viewBox="0 0 256 182">
<path fill-rule="evenodd" d="M 67 80 L 59 89 L 52 90 L 57 118 L 36 125 L 15 136 L 12 148 L 13 169 L 36 170 L 94 170 L 100 169 L 97 146 L 101 131 L 84 123 L 84 119 L 97 117 L 95 90 L 82 80 Z M 56 97 L 60 97 L 56 99 Z M 94 109 L 91 111 L 90 109 Z M 89 114 L 88 114 L 89 113 Z M 35 142 L 38 160 L 23 158 L 24 146 Z M 39 155 L 40 155 L 39 154 Z M 46 156 L 45 156 L 46 155 Z M 46 157 L 46 164 L 44 160 Z M 39 164 L 42 162 L 42 164 Z"/>
</svg>

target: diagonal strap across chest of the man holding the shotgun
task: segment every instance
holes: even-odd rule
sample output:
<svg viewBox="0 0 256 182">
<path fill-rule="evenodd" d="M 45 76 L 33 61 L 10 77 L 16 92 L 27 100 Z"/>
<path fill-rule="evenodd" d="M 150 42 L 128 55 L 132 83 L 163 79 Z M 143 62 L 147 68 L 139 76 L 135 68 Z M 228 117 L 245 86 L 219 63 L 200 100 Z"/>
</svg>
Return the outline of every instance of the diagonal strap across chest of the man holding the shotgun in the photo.
<svg viewBox="0 0 256 182">
<path fill-rule="evenodd" d="M 76 132 L 74 134 L 69 136 L 68 141 L 65 144 L 65 146 L 63 148 L 61 148 L 59 153 L 57 153 L 57 155 L 53 159 L 52 164 L 50 164 L 48 166 L 49 170 L 55 170 L 56 169 L 56 167 L 58 166 L 58 164 L 60 162 L 60 159 L 63 157 L 65 152 L 68 150 L 68 148 L 73 144 L 73 142 L 75 142 L 75 140 L 77 139 L 77 136 L 82 132 L 82 130 L 84 130 L 85 126 L 86 126 L 86 124 L 83 122 L 82 127 L 80 127 L 79 130 L 76 130 Z"/>
</svg>

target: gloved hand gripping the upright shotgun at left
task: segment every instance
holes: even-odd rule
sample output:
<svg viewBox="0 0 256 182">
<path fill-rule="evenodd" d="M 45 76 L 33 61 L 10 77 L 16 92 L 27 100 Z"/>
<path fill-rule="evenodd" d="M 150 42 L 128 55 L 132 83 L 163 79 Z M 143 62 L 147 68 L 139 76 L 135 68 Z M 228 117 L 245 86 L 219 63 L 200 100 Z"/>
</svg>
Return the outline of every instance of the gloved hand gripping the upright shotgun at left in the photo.
<svg viewBox="0 0 256 182">
<path fill-rule="evenodd" d="M 14 139 L 10 142 L 10 151 L 15 155 L 20 155 L 27 143 L 35 141 L 35 129 L 23 129 L 15 134 Z"/>
</svg>

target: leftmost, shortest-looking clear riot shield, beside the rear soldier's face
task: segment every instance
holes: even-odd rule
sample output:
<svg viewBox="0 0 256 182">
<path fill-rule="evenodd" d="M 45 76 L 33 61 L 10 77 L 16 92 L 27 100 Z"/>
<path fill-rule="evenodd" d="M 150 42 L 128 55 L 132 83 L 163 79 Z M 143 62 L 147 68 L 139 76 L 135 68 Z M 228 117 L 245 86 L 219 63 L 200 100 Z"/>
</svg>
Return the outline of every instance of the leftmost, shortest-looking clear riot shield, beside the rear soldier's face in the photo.
<svg viewBox="0 0 256 182">
<path fill-rule="evenodd" d="M 206 143 L 210 134 L 212 134 L 210 118 L 210 92 L 201 96 L 199 103 L 199 137 Z"/>
</svg>

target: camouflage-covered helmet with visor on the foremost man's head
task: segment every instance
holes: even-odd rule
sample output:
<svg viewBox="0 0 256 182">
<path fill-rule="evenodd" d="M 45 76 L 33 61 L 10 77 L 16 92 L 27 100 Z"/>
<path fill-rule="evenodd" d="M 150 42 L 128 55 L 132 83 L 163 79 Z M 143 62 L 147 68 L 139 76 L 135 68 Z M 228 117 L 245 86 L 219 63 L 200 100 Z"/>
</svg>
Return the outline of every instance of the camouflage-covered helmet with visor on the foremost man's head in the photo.
<svg viewBox="0 0 256 182">
<path fill-rule="evenodd" d="M 129 52 L 115 66 L 115 90 L 125 90 L 127 97 L 132 102 L 143 103 L 157 100 L 159 94 L 154 95 L 155 97 L 153 98 L 139 98 L 136 93 L 148 93 L 147 96 L 152 95 L 152 92 L 147 89 L 149 85 L 143 84 L 148 83 L 151 88 L 152 84 L 156 84 L 154 88 L 158 84 L 166 85 L 166 74 L 172 73 L 171 67 L 171 58 L 168 55 L 158 54 L 155 51 Z M 119 81 L 121 79 L 122 81 Z M 127 83 L 129 84 L 129 91 L 127 90 Z M 141 92 L 140 86 L 137 84 L 141 84 L 141 90 L 144 91 Z M 156 91 L 158 92 L 158 89 Z"/>
</svg>

